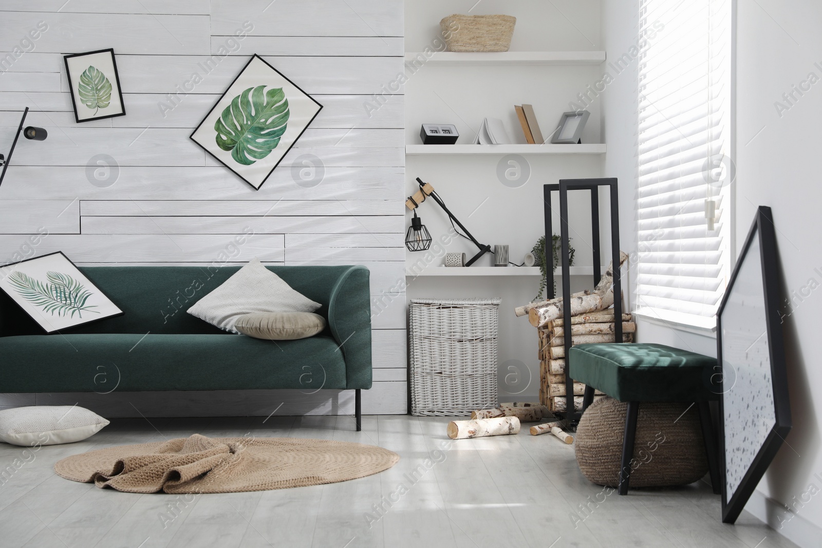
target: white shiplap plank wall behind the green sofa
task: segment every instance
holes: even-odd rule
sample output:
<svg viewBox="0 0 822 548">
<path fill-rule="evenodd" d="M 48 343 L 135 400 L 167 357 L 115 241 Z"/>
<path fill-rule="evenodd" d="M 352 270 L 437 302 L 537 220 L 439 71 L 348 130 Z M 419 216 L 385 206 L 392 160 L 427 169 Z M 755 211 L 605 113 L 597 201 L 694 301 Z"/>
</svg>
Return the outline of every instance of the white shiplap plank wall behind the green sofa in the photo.
<svg viewBox="0 0 822 548">
<path fill-rule="evenodd" d="M 48 30 L 25 41 L 39 21 Z M 253 30 L 229 42 L 247 22 Z M 31 255 L 64 251 L 80 265 L 210 264 L 251 227 L 255 236 L 230 260 L 367 265 L 379 305 L 375 383 L 363 394 L 363 411 L 405 412 L 405 296 L 396 292 L 404 288 L 402 90 L 376 111 L 364 106 L 403 71 L 403 34 L 401 0 L 4 0 L 0 58 L 12 53 L 14 60 L 0 73 L 0 152 L 10 148 L 25 107 L 27 124 L 45 127 L 48 140 L 18 142 L 0 187 L 0 262 L 21 246 L 27 251 L 27 235 L 44 227 L 48 237 Z M 226 44 L 231 53 L 213 58 L 216 67 L 204 75 L 199 64 Z M 77 124 L 62 55 L 103 48 L 116 53 L 127 115 Z M 252 53 L 324 105 L 259 191 L 188 138 Z M 202 81 L 163 113 L 160 102 L 169 104 L 195 71 Z M 110 187 L 86 175 L 96 154 L 118 164 Z M 291 165 L 302 154 L 324 164 L 316 187 L 294 180 Z M 91 396 L 8 394 L 0 407 L 83 398 Z M 267 415 L 284 399 L 281 414 L 353 412 L 347 393 L 129 398 L 154 416 L 225 414 L 227 407 Z M 127 399 L 94 405 L 127 415 Z"/>
</svg>

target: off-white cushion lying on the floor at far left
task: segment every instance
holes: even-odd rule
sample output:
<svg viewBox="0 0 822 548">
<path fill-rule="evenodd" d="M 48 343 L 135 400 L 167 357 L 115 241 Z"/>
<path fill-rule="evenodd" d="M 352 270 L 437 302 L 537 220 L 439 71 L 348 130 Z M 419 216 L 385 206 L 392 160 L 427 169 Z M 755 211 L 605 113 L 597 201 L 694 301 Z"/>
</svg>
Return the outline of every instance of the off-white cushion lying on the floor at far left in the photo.
<svg viewBox="0 0 822 548">
<path fill-rule="evenodd" d="M 108 426 L 97 413 L 76 405 L 39 405 L 0 411 L 0 440 L 12 445 L 71 444 Z"/>
</svg>

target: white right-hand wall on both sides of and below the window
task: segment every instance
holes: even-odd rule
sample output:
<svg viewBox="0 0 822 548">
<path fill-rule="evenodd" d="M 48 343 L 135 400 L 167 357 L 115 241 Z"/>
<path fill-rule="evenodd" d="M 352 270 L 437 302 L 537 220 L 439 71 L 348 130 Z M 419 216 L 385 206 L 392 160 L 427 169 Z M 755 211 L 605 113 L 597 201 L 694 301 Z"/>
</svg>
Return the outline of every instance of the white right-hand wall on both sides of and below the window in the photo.
<svg viewBox="0 0 822 548">
<path fill-rule="evenodd" d="M 608 58 L 624 53 L 637 35 L 638 2 L 603 2 L 603 42 Z M 793 430 L 746 509 L 800 546 L 820 546 L 822 530 L 822 385 L 816 343 L 822 320 L 815 313 L 822 284 L 822 246 L 813 228 L 822 198 L 816 159 L 822 136 L 822 85 L 792 100 L 781 98 L 810 72 L 822 77 L 822 20 L 819 2 L 738 2 L 737 7 L 737 251 L 744 243 L 755 207 L 774 211 L 783 297 L 798 295 L 783 332 Z M 626 74 L 625 76 L 629 76 Z M 621 237 L 635 249 L 636 62 L 630 77 L 619 78 L 603 94 L 603 130 L 608 152 L 606 177 L 621 181 Z M 780 117 L 774 102 L 789 106 Z M 760 132 L 761 131 L 761 132 Z M 627 242 L 632 242 L 628 246 Z M 810 280 L 814 281 L 811 282 Z M 796 293 L 794 293 L 796 292 Z M 801 301 L 800 301 L 801 299 Z M 791 309 L 786 309 L 789 311 Z M 716 355 L 715 338 L 640 321 L 638 340 Z M 809 486 L 817 495 L 808 495 Z M 796 497 L 796 499 L 794 499 Z M 798 503 L 797 503 L 798 501 Z M 791 506 L 793 513 L 783 506 Z"/>
</svg>

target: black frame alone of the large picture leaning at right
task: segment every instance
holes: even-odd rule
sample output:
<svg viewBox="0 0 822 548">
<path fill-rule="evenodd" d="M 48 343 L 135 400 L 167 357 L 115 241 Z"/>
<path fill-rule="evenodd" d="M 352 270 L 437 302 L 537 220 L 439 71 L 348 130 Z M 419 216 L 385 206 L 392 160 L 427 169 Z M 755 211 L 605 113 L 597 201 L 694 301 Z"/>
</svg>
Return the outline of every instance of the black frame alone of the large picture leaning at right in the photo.
<svg viewBox="0 0 822 548">
<path fill-rule="evenodd" d="M 760 269 L 762 274 L 762 287 L 764 289 L 764 311 L 765 326 L 768 337 L 768 350 L 770 360 L 771 389 L 774 396 L 774 425 L 770 428 L 769 434 L 764 443 L 756 449 L 755 457 L 750 466 L 741 478 L 737 489 L 732 494 L 727 492 L 727 466 L 728 456 L 726 454 L 726 433 L 725 407 L 726 398 L 734 388 L 734 385 L 726 387 L 726 380 L 736 382 L 736 368 L 726 365 L 723 361 L 723 314 L 729 306 L 729 298 L 732 288 L 737 281 L 737 277 L 746 266 L 745 260 L 751 246 L 759 246 Z M 722 458 L 722 520 L 723 523 L 736 522 L 745 504 L 753 494 L 757 484 L 762 479 L 769 464 L 774 460 L 779 448 L 782 446 L 785 436 L 791 431 L 791 407 L 787 390 L 787 371 L 785 361 L 785 346 L 782 333 L 782 324 L 779 315 L 779 278 L 777 270 L 777 248 L 776 233 L 774 228 L 774 218 L 771 209 L 760 205 L 756 211 L 755 219 L 750 227 L 745 245 L 742 246 L 737 265 L 733 269 L 731 278 L 728 281 L 727 289 L 717 311 L 717 361 L 721 368 L 721 375 L 717 383 L 720 389 L 719 398 L 719 452 Z M 750 267 L 750 265 L 747 265 Z M 727 371 L 726 371 L 727 370 Z M 733 371 L 733 373 L 732 373 Z M 728 496 L 730 495 L 730 499 Z"/>
</svg>

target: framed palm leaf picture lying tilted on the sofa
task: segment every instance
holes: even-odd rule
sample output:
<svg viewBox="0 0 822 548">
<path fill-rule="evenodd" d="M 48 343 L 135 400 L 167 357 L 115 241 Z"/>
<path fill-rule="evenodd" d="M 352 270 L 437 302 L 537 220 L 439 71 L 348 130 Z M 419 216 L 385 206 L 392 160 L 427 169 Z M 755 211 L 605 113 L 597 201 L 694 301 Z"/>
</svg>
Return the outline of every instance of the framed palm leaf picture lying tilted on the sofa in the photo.
<svg viewBox="0 0 822 548">
<path fill-rule="evenodd" d="M 122 314 L 61 251 L 3 266 L 0 288 L 46 333 Z"/>
</svg>

